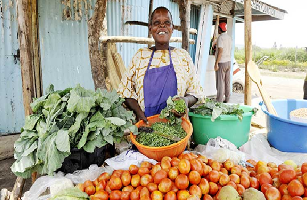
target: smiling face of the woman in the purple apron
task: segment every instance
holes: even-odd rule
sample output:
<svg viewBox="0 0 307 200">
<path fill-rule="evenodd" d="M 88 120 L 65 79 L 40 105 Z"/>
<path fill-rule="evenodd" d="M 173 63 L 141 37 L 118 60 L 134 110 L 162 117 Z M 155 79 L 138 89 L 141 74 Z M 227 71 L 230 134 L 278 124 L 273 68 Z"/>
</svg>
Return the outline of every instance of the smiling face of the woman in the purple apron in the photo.
<svg viewBox="0 0 307 200">
<path fill-rule="evenodd" d="M 170 13 L 166 9 L 156 10 L 149 29 L 155 43 L 160 45 L 169 43 L 174 30 Z"/>
</svg>

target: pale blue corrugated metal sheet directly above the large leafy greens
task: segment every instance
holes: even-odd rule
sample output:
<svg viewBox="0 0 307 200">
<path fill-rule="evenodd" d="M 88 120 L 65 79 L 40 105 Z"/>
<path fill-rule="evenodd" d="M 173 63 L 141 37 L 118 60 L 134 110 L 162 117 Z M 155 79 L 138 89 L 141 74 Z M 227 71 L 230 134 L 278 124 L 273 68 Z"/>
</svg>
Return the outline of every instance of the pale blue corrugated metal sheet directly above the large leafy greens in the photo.
<svg viewBox="0 0 307 200">
<path fill-rule="evenodd" d="M 62 1 L 63 2 L 63 1 Z M 81 4 L 82 19 L 73 3 Z M 94 5 L 94 0 L 70 0 L 71 17 L 63 19 L 64 5 L 61 0 L 38 0 L 38 20 L 41 52 L 42 82 L 45 90 L 49 84 L 61 90 L 77 83 L 93 89 L 92 72 L 88 50 L 88 26 L 85 2 Z M 91 10 L 90 10 L 91 11 Z"/>
</svg>

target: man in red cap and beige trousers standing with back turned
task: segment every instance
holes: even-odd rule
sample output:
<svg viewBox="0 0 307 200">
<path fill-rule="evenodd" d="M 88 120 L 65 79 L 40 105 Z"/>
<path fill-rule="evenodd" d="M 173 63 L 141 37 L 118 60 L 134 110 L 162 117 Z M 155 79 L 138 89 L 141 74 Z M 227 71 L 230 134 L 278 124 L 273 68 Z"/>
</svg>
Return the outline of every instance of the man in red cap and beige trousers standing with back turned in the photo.
<svg viewBox="0 0 307 200">
<path fill-rule="evenodd" d="M 218 25 L 218 34 L 215 52 L 216 101 L 227 103 L 230 98 L 230 71 L 231 71 L 231 45 L 230 36 L 227 35 L 226 23 Z M 223 97 L 225 95 L 225 100 Z"/>
</svg>

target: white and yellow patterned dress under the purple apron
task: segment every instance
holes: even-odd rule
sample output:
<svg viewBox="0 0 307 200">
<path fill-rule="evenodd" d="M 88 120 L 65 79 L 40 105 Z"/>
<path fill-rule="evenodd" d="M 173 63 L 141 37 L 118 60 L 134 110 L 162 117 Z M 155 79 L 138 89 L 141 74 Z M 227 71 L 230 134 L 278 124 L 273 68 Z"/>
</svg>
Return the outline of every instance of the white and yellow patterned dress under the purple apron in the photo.
<svg viewBox="0 0 307 200">
<path fill-rule="evenodd" d="M 123 75 L 118 93 L 122 98 L 132 98 L 138 101 L 142 111 L 145 110 L 143 80 L 153 50 L 139 49 L 133 56 L 130 65 Z M 178 97 L 192 95 L 197 99 L 204 99 L 203 89 L 196 74 L 196 70 L 189 53 L 183 49 L 171 50 L 172 61 L 177 76 Z M 170 64 L 168 50 L 155 50 L 150 69 Z M 154 83 L 153 83 L 154 84 Z"/>
</svg>

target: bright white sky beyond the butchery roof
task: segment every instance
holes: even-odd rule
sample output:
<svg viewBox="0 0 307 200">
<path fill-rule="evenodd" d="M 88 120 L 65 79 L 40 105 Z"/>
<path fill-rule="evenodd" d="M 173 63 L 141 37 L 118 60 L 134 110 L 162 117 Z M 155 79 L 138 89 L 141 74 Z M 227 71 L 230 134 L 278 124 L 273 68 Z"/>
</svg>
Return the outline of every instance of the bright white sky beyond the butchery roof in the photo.
<svg viewBox="0 0 307 200">
<path fill-rule="evenodd" d="M 262 48 L 307 47 L 307 0 L 261 0 L 288 12 L 283 20 L 252 23 L 252 44 Z M 244 45 L 244 23 L 236 24 L 236 46 Z"/>
</svg>

